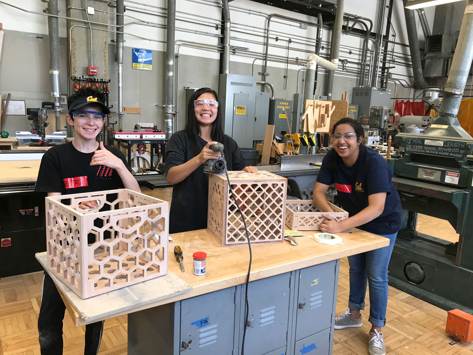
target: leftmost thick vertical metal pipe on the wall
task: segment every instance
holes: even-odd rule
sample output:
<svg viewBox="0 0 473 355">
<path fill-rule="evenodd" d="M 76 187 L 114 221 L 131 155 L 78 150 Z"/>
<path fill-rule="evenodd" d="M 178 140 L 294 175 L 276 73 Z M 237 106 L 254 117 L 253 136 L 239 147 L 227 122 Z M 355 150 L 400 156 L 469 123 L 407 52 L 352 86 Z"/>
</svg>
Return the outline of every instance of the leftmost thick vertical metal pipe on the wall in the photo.
<svg viewBox="0 0 473 355">
<path fill-rule="evenodd" d="M 50 0 L 48 14 L 58 15 L 58 0 Z M 61 81 L 59 78 L 59 18 L 48 16 L 49 74 L 51 76 L 51 97 L 54 101 L 56 131 L 61 130 Z"/>
</svg>

